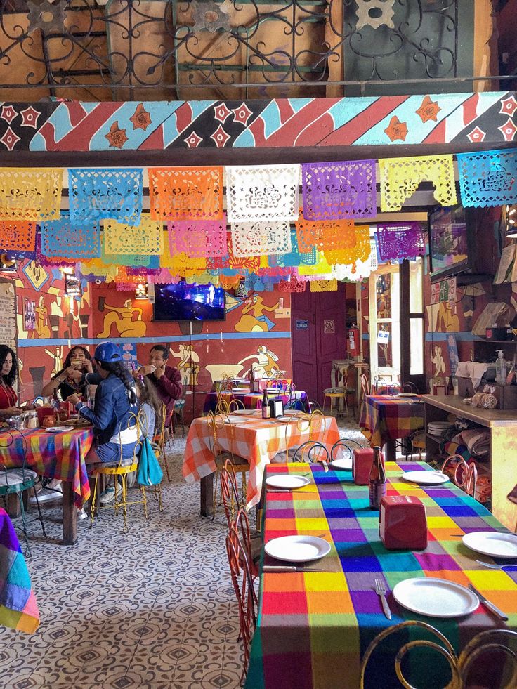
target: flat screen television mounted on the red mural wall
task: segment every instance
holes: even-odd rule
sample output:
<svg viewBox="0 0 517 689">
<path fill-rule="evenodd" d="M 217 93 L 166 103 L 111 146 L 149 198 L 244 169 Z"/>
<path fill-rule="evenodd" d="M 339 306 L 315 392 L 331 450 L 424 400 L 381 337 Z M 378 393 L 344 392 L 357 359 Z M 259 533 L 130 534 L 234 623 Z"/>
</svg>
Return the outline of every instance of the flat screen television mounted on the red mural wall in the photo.
<svg viewBox="0 0 517 689">
<path fill-rule="evenodd" d="M 225 320 L 222 287 L 213 284 L 155 285 L 154 320 Z"/>
</svg>

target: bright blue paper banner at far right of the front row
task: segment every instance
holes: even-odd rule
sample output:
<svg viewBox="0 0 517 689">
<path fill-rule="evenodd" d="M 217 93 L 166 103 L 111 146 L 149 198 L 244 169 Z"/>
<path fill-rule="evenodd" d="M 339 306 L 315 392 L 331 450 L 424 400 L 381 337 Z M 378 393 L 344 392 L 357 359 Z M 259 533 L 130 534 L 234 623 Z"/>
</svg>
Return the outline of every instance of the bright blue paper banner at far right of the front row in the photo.
<svg viewBox="0 0 517 689">
<path fill-rule="evenodd" d="M 459 153 L 457 160 L 464 206 L 517 203 L 517 150 Z"/>
</svg>

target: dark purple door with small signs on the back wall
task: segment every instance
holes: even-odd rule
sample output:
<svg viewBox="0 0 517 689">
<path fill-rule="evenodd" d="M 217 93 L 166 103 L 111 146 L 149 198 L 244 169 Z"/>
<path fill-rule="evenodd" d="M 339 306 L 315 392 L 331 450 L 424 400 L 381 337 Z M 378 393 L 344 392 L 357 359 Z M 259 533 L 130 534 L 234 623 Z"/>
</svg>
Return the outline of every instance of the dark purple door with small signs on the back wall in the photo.
<svg viewBox="0 0 517 689">
<path fill-rule="evenodd" d="M 336 292 L 306 289 L 291 296 L 293 381 L 321 405 L 332 384 L 332 360 L 346 358 L 345 310 L 343 282 Z"/>
</svg>

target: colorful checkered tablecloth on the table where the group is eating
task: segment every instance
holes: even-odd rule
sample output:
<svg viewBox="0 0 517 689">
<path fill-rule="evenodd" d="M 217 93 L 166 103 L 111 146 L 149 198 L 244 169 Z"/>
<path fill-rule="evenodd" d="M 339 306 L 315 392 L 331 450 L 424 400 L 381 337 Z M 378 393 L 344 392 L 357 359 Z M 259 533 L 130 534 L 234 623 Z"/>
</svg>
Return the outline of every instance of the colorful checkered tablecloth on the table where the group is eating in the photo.
<svg viewBox="0 0 517 689">
<path fill-rule="evenodd" d="M 91 428 L 70 428 L 62 433 L 47 433 L 41 428 L 27 431 L 0 431 L 0 464 L 7 468 L 22 466 L 25 438 L 25 466 L 46 478 L 70 481 L 74 503 L 81 508 L 90 497 L 90 484 L 84 457 L 93 442 Z"/>
</svg>

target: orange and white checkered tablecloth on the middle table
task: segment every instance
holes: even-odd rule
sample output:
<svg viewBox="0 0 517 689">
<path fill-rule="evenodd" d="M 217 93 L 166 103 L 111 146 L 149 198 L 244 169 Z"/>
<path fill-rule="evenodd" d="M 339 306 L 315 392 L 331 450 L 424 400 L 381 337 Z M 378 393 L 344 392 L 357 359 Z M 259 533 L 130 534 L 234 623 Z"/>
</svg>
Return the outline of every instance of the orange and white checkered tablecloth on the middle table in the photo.
<svg viewBox="0 0 517 689">
<path fill-rule="evenodd" d="M 296 421 L 282 423 L 275 419 L 263 420 L 258 414 L 242 416 L 235 424 L 224 424 L 218 431 L 218 443 L 223 450 L 244 457 L 249 462 L 247 508 L 258 503 L 262 488 L 264 468 L 279 452 L 302 445 L 307 440 L 318 440 L 332 447 L 339 440 L 339 430 L 334 416 L 322 416 L 318 427 L 309 438 L 308 423 Z M 216 471 L 211 430 L 207 418 L 194 419 L 187 435 L 183 478 L 187 483 L 199 481 Z M 294 454 L 294 450 L 291 450 Z"/>
</svg>

